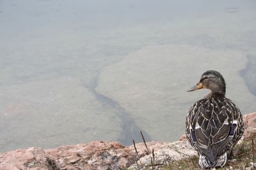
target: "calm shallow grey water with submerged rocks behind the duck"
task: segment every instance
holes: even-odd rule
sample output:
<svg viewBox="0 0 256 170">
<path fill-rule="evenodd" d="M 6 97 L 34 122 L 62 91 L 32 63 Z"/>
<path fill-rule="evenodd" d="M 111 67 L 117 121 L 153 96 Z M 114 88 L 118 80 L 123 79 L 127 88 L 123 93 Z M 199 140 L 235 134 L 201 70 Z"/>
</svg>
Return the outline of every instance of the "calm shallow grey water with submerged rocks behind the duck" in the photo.
<svg viewBox="0 0 256 170">
<path fill-rule="evenodd" d="M 207 69 L 255 111 L 256 1 L 0 1 L 0 152 L 175 141 Z"/>
</svg>

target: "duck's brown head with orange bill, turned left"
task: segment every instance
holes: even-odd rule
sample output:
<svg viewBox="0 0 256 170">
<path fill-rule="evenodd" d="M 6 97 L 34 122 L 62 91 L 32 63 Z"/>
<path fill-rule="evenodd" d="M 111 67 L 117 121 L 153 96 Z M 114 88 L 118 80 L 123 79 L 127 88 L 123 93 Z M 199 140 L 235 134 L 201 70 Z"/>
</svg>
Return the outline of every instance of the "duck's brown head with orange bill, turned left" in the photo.
<svg viewBox="0 0 256 170">
<path fill-rule="evenodd" d="M 225 96 L 226 83 L 223 76 L 218 71 L 209 70 L 202 74 L 200 81 L 188 92 L 198 89 L 210 89 L 211 94 L 221 94 Z"/>
</svg>

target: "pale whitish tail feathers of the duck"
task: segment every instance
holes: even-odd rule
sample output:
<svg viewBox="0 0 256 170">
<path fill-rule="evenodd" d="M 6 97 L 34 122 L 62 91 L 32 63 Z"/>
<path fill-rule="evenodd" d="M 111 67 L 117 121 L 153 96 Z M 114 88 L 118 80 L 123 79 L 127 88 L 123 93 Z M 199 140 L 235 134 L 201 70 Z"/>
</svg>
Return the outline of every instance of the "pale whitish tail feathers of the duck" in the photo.
<svg viewBox="0 0 256 170">
<path fill-rule="evenodd" d="M 227 162 L 227 152 L 225 152 L 223 155 L 218 157 L 214 162 L 211 162 L 211 160 L 208 157 L 205 157 L 203 155 L 199 156 L 199 164 L 201 167 L 209 168 L 209 167 L 223 167 L 225 166 Z"/>
</svg>

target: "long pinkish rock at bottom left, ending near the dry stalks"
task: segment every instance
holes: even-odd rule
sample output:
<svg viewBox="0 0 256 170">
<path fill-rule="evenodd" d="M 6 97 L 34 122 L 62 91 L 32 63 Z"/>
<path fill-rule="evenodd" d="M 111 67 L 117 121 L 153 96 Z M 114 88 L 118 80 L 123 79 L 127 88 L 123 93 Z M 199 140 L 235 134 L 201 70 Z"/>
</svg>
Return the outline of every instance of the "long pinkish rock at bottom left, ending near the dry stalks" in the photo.
<svg viewBox="0 0 256 170">
<path fill-rule="evenodd" d="M 42 150 L 28 148 L 0 154 L 0 169 L 124 169 L 135 162 L 132 148 L 95 141 Z"/>
</svg>

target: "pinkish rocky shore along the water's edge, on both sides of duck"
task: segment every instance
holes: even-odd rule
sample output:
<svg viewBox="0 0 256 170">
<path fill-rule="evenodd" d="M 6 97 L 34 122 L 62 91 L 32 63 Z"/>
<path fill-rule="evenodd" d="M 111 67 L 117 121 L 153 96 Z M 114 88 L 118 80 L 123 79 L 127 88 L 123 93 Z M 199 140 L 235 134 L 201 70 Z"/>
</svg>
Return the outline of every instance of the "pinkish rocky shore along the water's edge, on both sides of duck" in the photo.
<svg viewBox="0 0 256 170">
<path fill-rule="evenodd" d="M 244 123 L 246 131 L 241 142 L 255 138 L 256 113 L 244 115 Z M 93 141 L 46 150 L 31 147 L 1 153 L 0 169 L 138 169 L 141 165 L 149 166 L 150 157 L 161 167 L 196 155 L 184 136 L 174 143 L 151 141 L 147 147 L 151 153 L 154 149 L 154 155 L 148 154 L 144 143 L 136 144 L 137 155 L 133 145 L 123 146 L 116 141 Z M 140 161 L 136 163 L 138 157 Z"/>
</svg>

